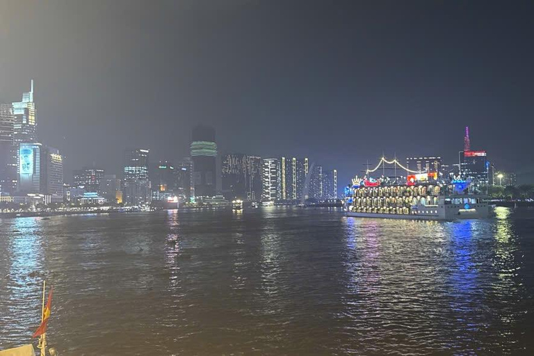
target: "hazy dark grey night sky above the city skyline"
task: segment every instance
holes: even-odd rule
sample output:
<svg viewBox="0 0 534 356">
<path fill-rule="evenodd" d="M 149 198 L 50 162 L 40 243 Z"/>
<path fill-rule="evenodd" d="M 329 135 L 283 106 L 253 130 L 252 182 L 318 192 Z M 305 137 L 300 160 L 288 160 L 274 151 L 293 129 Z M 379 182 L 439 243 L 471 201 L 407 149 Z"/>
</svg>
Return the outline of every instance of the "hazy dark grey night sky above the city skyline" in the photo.
<svg viewBox="0 0 534 356">
<path fill-rule="evenodd" d="M 0 102 L 35 80 L 38 134 L 120 173 L 125 147 L 309 156 L 339 184 L 382 155 L 455 163 L 464 126 L 534 175 L 532 1 L 0 0 Z M 532 180 L 532 179 L 531 179 Z"/>
</svg>

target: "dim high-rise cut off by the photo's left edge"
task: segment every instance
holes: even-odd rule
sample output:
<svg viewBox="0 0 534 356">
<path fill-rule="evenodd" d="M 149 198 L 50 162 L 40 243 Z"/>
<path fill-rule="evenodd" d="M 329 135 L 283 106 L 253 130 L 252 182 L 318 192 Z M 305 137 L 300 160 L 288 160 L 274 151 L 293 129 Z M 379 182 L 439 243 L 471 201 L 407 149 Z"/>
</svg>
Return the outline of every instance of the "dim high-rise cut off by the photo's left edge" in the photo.
<svg viewBox="0 0 534 356">
<path fill-rule="evenodd" d="M 0 193 L 17 190 L 17 152 L 13 131 L 15 115 L 11 104 L 0 104 Z"/>
</svg>

